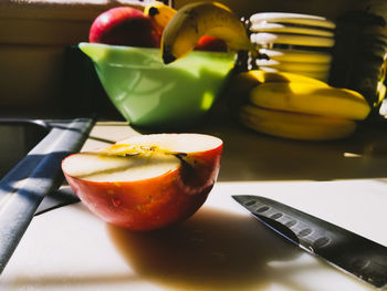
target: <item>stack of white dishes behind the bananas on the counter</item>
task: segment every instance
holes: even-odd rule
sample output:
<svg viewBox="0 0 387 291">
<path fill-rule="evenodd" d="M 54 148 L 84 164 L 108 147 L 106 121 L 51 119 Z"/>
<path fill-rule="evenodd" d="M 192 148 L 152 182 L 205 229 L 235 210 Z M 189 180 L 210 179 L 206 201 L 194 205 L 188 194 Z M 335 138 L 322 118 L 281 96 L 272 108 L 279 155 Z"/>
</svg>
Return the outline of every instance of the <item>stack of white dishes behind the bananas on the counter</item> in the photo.
<svg viewBox="0 0 387 291">
<path fill-rule="evenodd" d="M 250 38 L 266 59 L 257 65 L 327 82 L 335 43 L 335 23 L 323 17 L 264 12 L 250 18 Z"/>
</svg>

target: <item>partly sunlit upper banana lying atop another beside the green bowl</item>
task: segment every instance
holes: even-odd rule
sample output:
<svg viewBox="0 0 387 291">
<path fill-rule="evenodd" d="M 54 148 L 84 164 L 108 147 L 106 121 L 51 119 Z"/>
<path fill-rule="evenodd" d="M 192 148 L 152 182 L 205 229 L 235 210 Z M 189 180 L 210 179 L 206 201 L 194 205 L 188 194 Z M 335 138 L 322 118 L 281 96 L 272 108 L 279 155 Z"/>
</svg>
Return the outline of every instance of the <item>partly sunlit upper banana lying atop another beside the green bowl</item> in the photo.
<svg viewBox="0 0 387 291">
<path fill-rule="evenodd" d="M 362 94 L 312 83 L 264 83 L 253 87 L 250 101 L 261 107 L 364 119 L 370 106 Z"/>
</svg>

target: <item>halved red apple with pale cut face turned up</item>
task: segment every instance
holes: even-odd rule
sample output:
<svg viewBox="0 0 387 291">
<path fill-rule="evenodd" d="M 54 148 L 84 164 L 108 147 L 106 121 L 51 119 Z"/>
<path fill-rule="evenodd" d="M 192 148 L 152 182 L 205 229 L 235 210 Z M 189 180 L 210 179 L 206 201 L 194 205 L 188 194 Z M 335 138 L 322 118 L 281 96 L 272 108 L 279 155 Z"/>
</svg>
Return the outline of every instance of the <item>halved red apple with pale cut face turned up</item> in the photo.
<svg viewBox="0 0 387 291">
<path fill-rule="evenodd" d="M 103 220 L 132 230 L 170 226 L 206 201 L 223 143 L 202 134 L 138 135 L 62 163 L 69 185 Z"/>
</svg>

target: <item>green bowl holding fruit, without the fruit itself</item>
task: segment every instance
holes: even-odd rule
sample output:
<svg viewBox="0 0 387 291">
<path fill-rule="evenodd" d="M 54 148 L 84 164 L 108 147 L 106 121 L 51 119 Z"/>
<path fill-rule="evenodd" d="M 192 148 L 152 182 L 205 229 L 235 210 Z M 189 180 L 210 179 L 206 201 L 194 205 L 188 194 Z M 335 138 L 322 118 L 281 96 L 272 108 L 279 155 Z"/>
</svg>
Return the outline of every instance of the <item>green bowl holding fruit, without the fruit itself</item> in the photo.
<svg viewBox="0 0 387 291">
<path fill-rule="evenodd" d="M 80 43 L 108 97 L 133 125 L 181 127 L 212 107 L 234 53 L 194 51 L 165 65 L 159 49 Z"/>
</svg>

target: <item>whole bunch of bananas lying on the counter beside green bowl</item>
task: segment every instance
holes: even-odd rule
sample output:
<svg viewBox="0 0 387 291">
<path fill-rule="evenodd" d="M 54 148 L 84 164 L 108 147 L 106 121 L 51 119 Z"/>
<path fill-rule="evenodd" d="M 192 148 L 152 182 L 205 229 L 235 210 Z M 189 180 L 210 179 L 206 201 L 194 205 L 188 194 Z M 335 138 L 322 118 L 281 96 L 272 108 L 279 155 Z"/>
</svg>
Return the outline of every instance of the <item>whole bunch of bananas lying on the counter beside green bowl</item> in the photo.
<svg viewBox="0 0 387 291">
<path fill-rule="evenodd" d="M 240 121 L 258 132 L 306 141 L 344 138 L 365 119 L 370 106 L 359 93 L 292 73 L 252 70 L 234 77 L 248 94 L 239 110 Z"/>
</svg>

